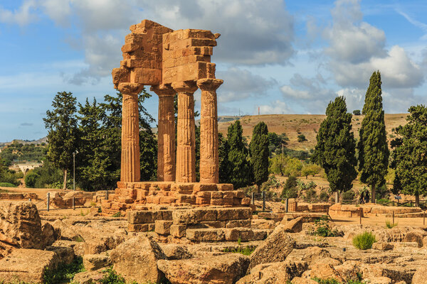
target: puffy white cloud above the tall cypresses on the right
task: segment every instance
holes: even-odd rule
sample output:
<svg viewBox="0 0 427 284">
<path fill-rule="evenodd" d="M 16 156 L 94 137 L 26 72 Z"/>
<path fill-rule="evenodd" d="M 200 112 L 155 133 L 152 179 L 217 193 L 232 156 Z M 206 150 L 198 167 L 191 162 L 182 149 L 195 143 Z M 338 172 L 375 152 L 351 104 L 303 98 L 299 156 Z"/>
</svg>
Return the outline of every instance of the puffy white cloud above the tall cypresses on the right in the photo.
<svg viewBox="0 0 427 284">
<path fill-rule="evenodd" d="M 333 24 L 325 28 L 330 45 L 328 69 L 344 88 L 366 88 L 372 72 L 379 70 L 388 88 L 418 87 L 424 82 L 423 70 L 394 45 L 385 49 L 384 31 L 362 21 L 359 0 L 338 0 L 331 11 Z"/>
</svg>

